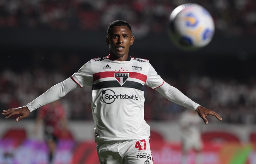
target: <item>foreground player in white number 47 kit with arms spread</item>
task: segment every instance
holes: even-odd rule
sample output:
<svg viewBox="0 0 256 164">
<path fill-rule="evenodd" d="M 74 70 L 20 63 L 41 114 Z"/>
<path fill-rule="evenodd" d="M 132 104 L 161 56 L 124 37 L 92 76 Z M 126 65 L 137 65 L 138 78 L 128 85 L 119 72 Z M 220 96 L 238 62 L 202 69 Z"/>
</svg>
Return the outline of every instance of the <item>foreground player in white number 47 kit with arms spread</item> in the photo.
<svg viewBox="0 0 256 164">
<path fill-rule="evenodd" d="M 30 112 L 84 86 L 92 87 L 92 116 L 95 142 L 100 163 L 153 164 L 150 150 L 150 127 L 144 120 L 144 92 L 147 85 L 168 100 L 180 104 L 208 124 L 207 115 L 220 116 L 193 102 L 178 89 L 170 86 L 156 73 L 146 59 L 129 55 L 134 42 L 131 26 L 116 20 L 108 26 L 106 43 L 110 54 L 95 58 L 82 66 L 70 78 L 54 85 L 26 106 L 4 110 L 10 118 L 20 114 L 16 121 Z"/>
</svg>

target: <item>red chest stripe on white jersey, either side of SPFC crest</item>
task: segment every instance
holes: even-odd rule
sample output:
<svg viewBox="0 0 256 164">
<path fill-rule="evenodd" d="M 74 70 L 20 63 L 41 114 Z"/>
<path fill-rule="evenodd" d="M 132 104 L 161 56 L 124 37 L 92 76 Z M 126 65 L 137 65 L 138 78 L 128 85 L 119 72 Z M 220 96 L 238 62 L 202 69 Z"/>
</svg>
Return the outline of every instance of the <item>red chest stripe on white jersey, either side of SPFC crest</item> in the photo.
<svg viewBox="0 0 256 164">
<path fill-rule="evenodd" d="M 92 81 L 95 82 L 96 80 L 99 80 L 101 78 L 106 78 L 106 77 L 114 77 L 115 73 L 129 73 L 129 77 L 139 79 L 143 82 L 147 81 L 147 76 L 140 74 L 138 72 L 115 72 L 115 71 L 106 71 L 106 72 L 98 72 L 92 75 L 93 79 Z"/>
</svg>

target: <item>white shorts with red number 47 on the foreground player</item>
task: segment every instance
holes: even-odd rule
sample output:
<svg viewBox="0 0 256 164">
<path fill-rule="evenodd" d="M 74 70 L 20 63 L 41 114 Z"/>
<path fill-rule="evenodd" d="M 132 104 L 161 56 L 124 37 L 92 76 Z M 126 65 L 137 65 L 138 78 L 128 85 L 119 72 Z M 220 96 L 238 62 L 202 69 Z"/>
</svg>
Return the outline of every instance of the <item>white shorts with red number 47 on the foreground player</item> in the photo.
<svg viewBox="0 0 256 164">
<path fill-rule="evenodd" d="M 100 164 L 153 164 L 150 139 L 97 143 Z"/>
</svg>

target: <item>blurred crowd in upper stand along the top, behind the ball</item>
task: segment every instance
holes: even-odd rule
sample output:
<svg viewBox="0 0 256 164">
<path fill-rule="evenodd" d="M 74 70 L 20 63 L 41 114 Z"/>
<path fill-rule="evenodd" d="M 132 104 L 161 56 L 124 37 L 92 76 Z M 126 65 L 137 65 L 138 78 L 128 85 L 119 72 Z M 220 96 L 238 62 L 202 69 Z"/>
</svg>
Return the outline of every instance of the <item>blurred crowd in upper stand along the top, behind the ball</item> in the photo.
<svg viewBox="0 0 256 164">
<path fill-rule="evenodd" d="M 1 0 L 0 27 L 105 31 L 124 19 L 143 37 L 165 31 L 170 12 L 185 3 L 204 6 L 223 34 L 256 34 L 255 0 Z"/>
</svg>

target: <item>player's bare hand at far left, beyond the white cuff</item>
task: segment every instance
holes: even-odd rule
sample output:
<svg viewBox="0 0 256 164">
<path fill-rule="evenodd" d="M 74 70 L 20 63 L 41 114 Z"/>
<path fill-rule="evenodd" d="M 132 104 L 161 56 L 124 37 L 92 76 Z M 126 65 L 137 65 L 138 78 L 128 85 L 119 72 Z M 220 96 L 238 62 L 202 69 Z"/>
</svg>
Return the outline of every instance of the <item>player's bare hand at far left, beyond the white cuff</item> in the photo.
<svg viewBox="0 0 256 164">
<path fill-rule="evenodd" d="M 14 114 L 18 114 L 20 115 L 20 117 L 16 118 L 16 121 L 20 121 L 23 118 L 28 117 L 30 111 L 28 110 L 27 106 L 22 106 L 19 108 L 12 108 L 12 109 L 8 109 L 8 110 L 4 110 L 3 111 L 3 115 L 7 115 L 5 118 L 10 118 L 12 115 Z"/>
</svg>

